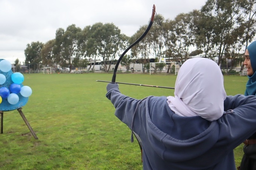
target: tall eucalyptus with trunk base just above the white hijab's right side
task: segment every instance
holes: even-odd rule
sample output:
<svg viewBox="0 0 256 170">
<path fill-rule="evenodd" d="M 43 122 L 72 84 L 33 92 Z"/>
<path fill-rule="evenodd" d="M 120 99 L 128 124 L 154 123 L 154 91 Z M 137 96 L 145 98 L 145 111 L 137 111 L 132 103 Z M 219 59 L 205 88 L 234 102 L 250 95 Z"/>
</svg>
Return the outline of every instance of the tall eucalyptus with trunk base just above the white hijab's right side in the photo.
<svg viewBox="0 0 256 170">
<path fill-rule="evenodd" d="M 240 0 L 207 0 L 202 7 L 201 12 L 212 18 L 213 35 L 212 35 L 212 52 L 218 56 L 218 65 L 220 65 L 222 57 L 227 54 L 230 47 L 234 43 L 231 36 L 239 27 L 241 21 L 241 5 Z"/>
</svg>

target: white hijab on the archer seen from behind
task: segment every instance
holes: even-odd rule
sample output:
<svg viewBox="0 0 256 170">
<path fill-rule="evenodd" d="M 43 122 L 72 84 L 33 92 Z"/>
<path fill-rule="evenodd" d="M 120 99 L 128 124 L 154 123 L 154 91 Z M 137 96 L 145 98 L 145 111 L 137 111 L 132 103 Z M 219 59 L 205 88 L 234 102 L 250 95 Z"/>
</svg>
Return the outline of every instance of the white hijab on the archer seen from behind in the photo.
<svg viewBox="0 0 256 170">
<path fill-rule="evenodd" d="M 219 119 L 224 112 L 226 92 L 219 66 L 210 59 L 193 58 L 181 66 L 175 82 L 174 97 L 167 103 L 180 116 Z"/>
</svg>

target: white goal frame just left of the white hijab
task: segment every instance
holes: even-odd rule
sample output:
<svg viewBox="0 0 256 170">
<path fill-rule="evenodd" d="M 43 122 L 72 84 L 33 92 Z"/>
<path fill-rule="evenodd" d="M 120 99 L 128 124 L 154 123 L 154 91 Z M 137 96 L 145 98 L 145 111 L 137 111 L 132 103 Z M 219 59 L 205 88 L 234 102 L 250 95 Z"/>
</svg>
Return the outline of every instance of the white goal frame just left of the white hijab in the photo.
<svg viewBox="0 0 256 170">
<path fill-rule="evenodd" d="M 178 62 L 154 62 L 150 63 L 150 69 L 149 69 L 149 74 L 151 75 L 151 72 L 167 72 L 168 68 L 169 73 L 173 73 L 177 75 L 178 69 L 177 68 Z"/>
</svg>

